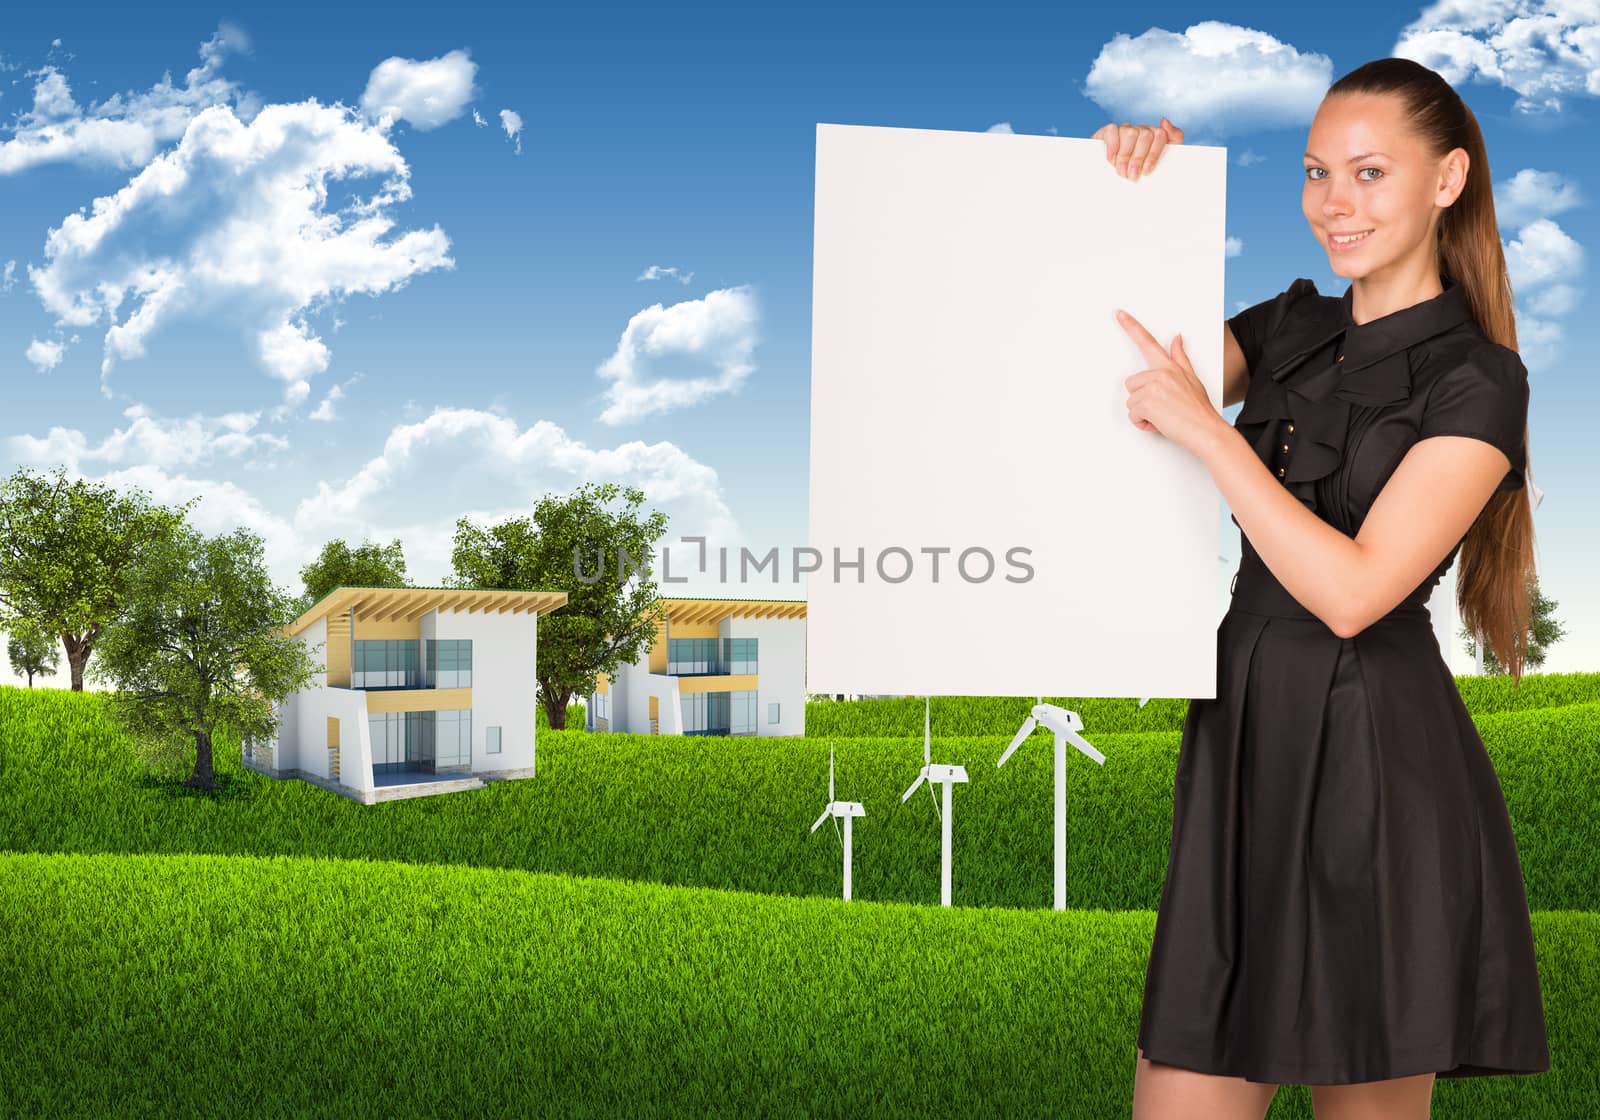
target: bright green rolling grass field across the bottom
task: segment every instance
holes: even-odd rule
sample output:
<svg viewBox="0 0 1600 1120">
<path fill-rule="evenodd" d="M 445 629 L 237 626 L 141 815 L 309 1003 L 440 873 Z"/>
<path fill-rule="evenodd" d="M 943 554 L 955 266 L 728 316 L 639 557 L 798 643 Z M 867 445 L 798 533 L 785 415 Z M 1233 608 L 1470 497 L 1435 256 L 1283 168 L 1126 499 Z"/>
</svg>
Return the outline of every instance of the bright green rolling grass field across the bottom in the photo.
<svg viewBox="0 0 1600 1120">
<path fill-rule="evenodd" d="M 1440 1080 L 1434 1115 L 1594 1117 L 1600 686 L 1499 683 L 1467 699 L 1554 1069 Z M 1072 766 L 1058 914 L 1048 738 L 994 768 L 1024 701 L 934 702 L 973 773 L 942 909 L 931 798 L 899 805 L 920 702 L 811 704 L 808 739 L 541 730 L 538 779 L 362 806 L 226 749 L 187 792 L 99 698 L 0 688 L 0 1115 L 1126 1115 L 1182 702 L 1072 706 L 1107 763 Z M 816 726 L 867 806 L 848 904 Z"/>
</svg>

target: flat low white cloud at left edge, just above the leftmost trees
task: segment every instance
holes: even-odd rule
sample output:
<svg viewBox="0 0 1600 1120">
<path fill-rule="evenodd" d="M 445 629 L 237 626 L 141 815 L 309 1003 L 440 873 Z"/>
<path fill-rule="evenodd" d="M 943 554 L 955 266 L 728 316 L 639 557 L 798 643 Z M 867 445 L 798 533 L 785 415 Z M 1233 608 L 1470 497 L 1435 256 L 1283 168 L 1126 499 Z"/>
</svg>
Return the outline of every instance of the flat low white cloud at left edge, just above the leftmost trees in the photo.
<svg viewBox="0 0 1600 1120">
<path fill-rule="evenodd" d="M 82 470 L 85 462 L 154 466 L 163 470 L 205 462 L 213 458 L 240 459 L 251 453 L 286 451 L 282 435 L 254 432 L 261 413 L 226 413 L 222 416 L 158 418 L 144 405 L 123 410 L 128 426 L 90 446 L 82 430 L 53 426 L 45 437 L 13 435 L 11 456 L 19 462 L 40 466 L 64 464 Z"/>
</svg>

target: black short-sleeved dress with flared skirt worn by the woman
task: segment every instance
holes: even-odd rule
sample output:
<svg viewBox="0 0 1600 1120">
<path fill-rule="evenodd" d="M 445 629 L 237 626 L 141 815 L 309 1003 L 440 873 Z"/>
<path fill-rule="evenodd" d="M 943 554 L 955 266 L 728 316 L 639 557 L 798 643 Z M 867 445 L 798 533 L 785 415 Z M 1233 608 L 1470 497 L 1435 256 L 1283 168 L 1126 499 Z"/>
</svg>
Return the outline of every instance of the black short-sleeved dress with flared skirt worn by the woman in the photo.
<svg viewBox="0 0 1600 1120">
<path fill-rule="evenodd" d="M 1493 443 L 1523 486 L 1526 370 L 1445 285 L 1354 325 L 1349 290 L 1296 280 L 1229 320 L 1235 427 L 1347 536 L 1429 435 Z M 1178 757 L 1150 1061 L 1288 1085 L 1550 1067 L 1506 798 L 1426 608 L 1459 547 L 1339 638 L 1240 533 L 1216 699 L 1190 701 Z"/>
</svg>

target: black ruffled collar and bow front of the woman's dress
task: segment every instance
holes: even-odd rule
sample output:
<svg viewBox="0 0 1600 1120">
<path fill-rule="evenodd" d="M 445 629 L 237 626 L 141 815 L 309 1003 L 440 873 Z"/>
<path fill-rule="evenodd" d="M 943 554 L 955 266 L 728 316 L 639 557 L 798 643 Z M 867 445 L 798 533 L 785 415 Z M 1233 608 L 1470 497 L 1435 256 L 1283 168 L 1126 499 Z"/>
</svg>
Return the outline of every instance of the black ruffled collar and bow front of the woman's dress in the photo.
<svg viewBox="0 0 1600 1120">
<path fill-rule="evenodd" d="M 1370 323 L 1352 320 L 1354 285 L 1341 299 L 1302 299 L 1267 341 L 1262 354 L 1267 376 L 1250 379 L 1245 406 L 1234 426 L 1261 461 L 1272 466 L 1277 421 L 1294 424 L 1282 482 L 1309 509 L 1317 509 L 1315 482 L 1344 461 L 1350 405 L 1403 405 L 1411 398 L 1406 350 L 1470 320 L 1461 285 L 1451 277 L 1442 277 L 1442 283 L 1445 290 L 1432 299 Z M 1341 336 L 1339 360 L 1312 360 Z"/>
</svg>

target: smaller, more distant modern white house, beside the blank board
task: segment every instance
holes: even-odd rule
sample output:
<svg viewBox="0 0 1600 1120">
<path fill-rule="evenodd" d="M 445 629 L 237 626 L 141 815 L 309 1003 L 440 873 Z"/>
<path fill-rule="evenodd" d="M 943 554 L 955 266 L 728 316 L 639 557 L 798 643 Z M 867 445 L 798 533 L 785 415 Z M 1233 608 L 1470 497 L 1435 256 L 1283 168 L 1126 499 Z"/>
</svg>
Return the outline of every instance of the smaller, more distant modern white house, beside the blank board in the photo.
<svg viewBox="0 0 1600 1120">
<path fill-rule="evenodd" d="M 805 734 L 805 600 L 662 598 L 650 651 L 586 698 L 589 731 Z"/>
</svg>

